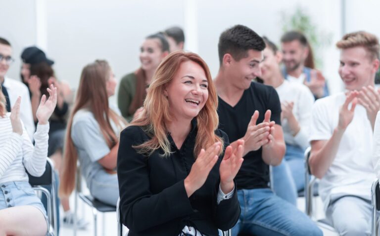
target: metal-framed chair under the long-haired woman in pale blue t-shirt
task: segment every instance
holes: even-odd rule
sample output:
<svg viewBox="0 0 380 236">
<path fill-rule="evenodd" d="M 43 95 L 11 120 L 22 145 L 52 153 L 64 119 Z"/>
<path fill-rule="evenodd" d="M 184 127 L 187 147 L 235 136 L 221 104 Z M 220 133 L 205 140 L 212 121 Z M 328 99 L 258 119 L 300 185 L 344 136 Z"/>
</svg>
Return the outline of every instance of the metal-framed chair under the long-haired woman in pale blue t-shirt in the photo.
<svg viewBox="0 0 380 236">
<path fill-rule="evenodd" d="M 76 176 L 76 191 L 75 191 L 75 218 L 74 218 L 74 236 L 76 236 L 76 223 L 77 223 L 77 209 L 78 209 L 78 203 L 77 203 L 77 197 L 81 198 L 83 202 L 85 202 L 87 205 L 89 205 L 92 208 L 93 217 L 94 217 L 94 236 L 97 236 L 97 212 L 115 212 L 116 206 L 106 204 L 104 202 L 101 202 L 94 198 L 91 195 L 84 195 L 82 193 L 82 183 L 81 183 L 81 173 L 79 166 L 77 167 L 77 176 Z M 104 215 L 103 215 L 103 234 L 105 235 L 104 231 Z"/>
</svg>

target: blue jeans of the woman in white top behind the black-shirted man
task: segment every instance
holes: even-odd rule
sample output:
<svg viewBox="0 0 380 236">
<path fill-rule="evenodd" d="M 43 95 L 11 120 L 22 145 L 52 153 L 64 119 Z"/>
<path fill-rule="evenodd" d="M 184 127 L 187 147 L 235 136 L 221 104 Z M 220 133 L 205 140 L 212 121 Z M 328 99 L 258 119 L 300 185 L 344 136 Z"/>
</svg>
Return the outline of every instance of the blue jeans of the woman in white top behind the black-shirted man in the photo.
<svg viewBox="0 0 380 236">
<path fill-rule="evenodd" d="M 272 176 L 276 195 L 296 205 L 297 193 L 305 186 L 304 150 L 286 144 L 285 157 L 280 165 L 273 166 Z"/>
</svg>

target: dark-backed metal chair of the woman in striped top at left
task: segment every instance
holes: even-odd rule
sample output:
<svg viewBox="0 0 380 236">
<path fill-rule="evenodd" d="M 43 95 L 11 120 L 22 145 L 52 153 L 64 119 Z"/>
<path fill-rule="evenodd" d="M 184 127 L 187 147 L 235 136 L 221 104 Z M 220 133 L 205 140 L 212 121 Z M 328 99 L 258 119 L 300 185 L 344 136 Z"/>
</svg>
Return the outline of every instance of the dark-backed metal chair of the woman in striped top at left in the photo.
<svg viewBox="0 0 380 236">
<path fill-rule="evenodd" d="M 41 192 L 45 194 L 47 197 L 47 218 L 48 218 L 48 234 L 57 236 L 57 208 L 55 202 L 55 176 L 54 176 L 54 168 L 51 160 L 47 158 L 46 169 L 42 176 L 35 177 L 32 176 L 26 171 L 29 177 L 29 184 L 32 186 L 33 190 L 37 192 Z M 42 187 L 42 185 L 51 186 L 51 194 L 50 192 Z"/>
</svg>

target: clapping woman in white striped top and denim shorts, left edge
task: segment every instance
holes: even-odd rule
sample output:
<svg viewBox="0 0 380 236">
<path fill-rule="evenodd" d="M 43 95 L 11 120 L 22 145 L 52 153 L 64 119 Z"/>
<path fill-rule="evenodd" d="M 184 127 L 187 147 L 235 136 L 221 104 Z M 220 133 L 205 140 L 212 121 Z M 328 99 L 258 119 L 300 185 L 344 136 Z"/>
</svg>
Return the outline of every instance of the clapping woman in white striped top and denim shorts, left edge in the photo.
<svg viewBox="0 0 380 236">
<path fill-rule="evenodd" d="M 49 98 L 41 98 L 37 110 L 38 125 L 33 146 L 20 121 L 18 97 L 12 113 L 6 113 L 0 90 L 0 236 L 43 236 L 47 233 L 47 215 L 41 200 L 29 184 L 25 169 L 33 176 L 45 172 L 48 119 L 54 111 L 57 94 L 53 85 Z"/>
</svg>

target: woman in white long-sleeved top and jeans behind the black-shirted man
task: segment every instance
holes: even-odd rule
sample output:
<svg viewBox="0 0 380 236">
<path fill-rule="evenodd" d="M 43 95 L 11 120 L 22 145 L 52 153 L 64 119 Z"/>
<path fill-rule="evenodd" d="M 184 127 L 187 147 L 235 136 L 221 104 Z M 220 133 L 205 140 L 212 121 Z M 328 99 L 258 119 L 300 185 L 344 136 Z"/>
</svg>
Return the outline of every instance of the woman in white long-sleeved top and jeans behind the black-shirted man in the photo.
<svg viewBox="0 0 380 236">
<path fill-rule="evenodd" d="M 277 46 L 263 38 L 266 48 L 261 63 L 261 79 L 273 86 L 281 102 L 281 124 L 284 130 L 286 153 L 282 163 L 273 167 L 273 189 L 275 193 L 296 205 L 297 192 L 304 188 L 304 151 L 309 146 L 308 130 L 311 109 L 314 103 L 313 94 L 303 84 L 284 79 L 280 62 L 282 54 Z"/>
</svg>

